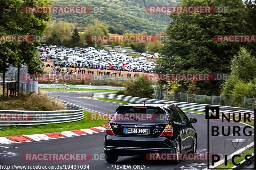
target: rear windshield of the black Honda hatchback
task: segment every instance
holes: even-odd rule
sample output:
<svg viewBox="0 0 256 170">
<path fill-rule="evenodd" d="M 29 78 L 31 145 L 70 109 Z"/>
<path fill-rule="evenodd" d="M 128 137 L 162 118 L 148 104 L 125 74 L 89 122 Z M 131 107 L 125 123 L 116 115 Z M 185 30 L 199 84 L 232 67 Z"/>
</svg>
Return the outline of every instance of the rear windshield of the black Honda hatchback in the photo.
<svg viewBox="0 0 256 170">
<path fill-rule="evenodd" d="M 160 107 L 122 106 L 111 118 L 111 122 L 166 122 L 164 110 Z"/>
</svg>

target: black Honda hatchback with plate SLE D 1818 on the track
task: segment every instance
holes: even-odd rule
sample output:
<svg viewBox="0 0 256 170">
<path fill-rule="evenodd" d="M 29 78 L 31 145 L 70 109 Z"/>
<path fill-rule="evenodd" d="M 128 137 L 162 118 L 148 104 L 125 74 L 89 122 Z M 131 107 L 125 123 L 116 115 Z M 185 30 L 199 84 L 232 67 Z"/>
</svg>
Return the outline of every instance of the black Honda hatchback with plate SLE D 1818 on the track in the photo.
<svg viewBox="0 0 256 170">
<path fill-rule="evenodd" d="M 126 104 L 119 106 L 107 124 L 104 153 L 107 162 L 119 156 L 147 153 L 196 152 L 197 135 L 190 118 L 175 105 Z M 179 163 L 177 160 L 171 161 Z"/>
</svg>

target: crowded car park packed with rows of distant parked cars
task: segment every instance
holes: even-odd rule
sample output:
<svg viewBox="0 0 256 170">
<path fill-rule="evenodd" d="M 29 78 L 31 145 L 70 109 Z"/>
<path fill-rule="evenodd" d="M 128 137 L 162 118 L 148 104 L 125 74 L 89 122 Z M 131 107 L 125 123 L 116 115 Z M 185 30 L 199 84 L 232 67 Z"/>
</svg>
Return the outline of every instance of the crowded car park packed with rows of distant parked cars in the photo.
<svg viewBox="0 0 256 170">
<path fill-rule="evenodd" d="M 152 73 L 156 66 L 155 62 L 146 60 L 145 53 L 135 58 L 128 55 L 125 50 L 116 52 L 115 50 L 96 50 L 93 47 L 66 48 L 56 45 L 42 45 L 38 50 L 42 61 L 52 63 L 48 67 L 53 66 L 55 69 L 65 67 Z M 151 57 L 151 55 L 148 56 Z"/>
</svg>

